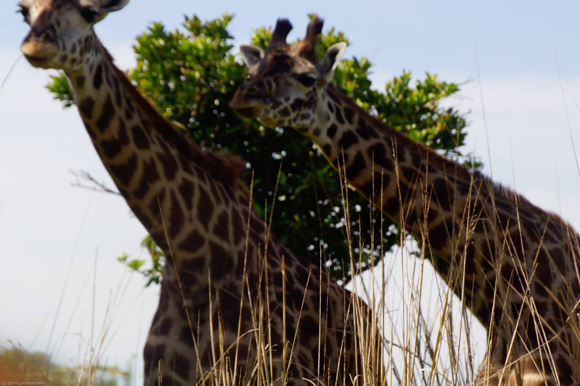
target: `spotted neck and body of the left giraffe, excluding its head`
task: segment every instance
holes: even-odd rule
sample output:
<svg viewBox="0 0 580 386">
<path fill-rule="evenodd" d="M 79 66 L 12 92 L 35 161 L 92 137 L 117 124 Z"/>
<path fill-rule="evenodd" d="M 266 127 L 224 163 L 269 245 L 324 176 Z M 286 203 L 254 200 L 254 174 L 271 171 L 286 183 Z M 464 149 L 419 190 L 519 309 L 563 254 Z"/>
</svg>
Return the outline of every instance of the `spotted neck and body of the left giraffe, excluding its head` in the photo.
<svg viewBox="0 0 580 386">
<path fill-rule="evenodd" d="M 341 365 L 335 370 L 340 363 L 335 356 L 346 358 L 342 360 L 348 360 L 349 366 L 354 363 L 356 346 L 349 344 L 348 338 L 346 348 L 339 346 L 344 331 L 347 337 L 354 336 L 353 314 L 340 311 L 344 309 L 341 305 L 350 301 L 350 293 L 328 282 L 314 265 L 267 235 L 264 221 L 250 210 L 247 189 L 238 179 L 245 170 L 244 163 L 200 151 L 137 92 L 98 41 L 95 50 L 81 72 L 67 74 L 75 103 L 119 192 L 168 257 L 160 303 L 144 348 L 145 384 L 157 384 L 159 371 L 165 383 L 194 384 L 198 376 L 206 376 L 215 368 L 215 351 L 219 353 L 225 347 L 228 358 L 232 358 L 237 353 L 237 342 L 240 360 L 228 363 L 237 363 L 242 380 L 245 372 L 249 376 L 257 351 L 258 338 L 252 343 L 256 336 L 254 323 L 263 323 L 261 315 L 252 313 L 252 304 L 259 304 L 255 299 L 262 292 L 267 292 L 266 307 L 272 309 L 270 314 L 268 308 L 266 317 L 267 323 L 272 321 L 268 336 L 273 345 L 287 343 L 282 341 L 282 326 L 297 331 L 295 323 L 302 320 L 303 347 L 297 345 L 296 357 L 300 359 L 293 363 L 308 362 L 299 367 L 292 363 L 292 374 L 310 376 L 312 372 L 306 374 L 302 367 L 316 372 L 313 361 L 318 357 L 302 358 L 306 358 L 305 353 L 316 352 L 319 345 L 317 319 L 311 315 L 318 315 L 320 304 L 328 305 L 320 299 L 330 298 L 329 306 L 336 309 L 328 321 L 332 336 L 328 340 L 322 336 L 336 353 L 332 356 L 336 365 L 329 371 L 335 374 L 343 368 Z M 264 279 L 266 274 L 269 278 Z M 286 277 L 288 283 L 282 293 Z M 245 289 L 240 293 L 242 281 Z M 307 286 L 310 295 L 305 302 Z M 251 298 L 243 307 L 242 296 Z M 282 312 L 284 301 L 288 306 Z M 288 324 L 282 323 L 287 314 Z M 345 321 L 349 323 L 346 327 Z M 288 340 L 292 340 L 291 334 Z M 282 355 L 281 349 L 270 355 L 274 356 L 274 374 L 281 373 Z"/>
</svg>

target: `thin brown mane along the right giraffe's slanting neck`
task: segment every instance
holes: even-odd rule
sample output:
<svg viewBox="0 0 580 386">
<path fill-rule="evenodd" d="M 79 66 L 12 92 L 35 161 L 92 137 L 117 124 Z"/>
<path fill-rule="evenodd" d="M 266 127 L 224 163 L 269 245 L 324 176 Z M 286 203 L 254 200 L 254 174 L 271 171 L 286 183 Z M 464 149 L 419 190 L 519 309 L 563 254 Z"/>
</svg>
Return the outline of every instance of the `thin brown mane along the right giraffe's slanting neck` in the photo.
<svg viewBox="0 0 580 386">
<path fill-rule="evenodd" d="M 492 181 L 490 177 L 485 176 L 485 174 L 481 173 L 479 170 L 470 170 L 463 165 L 459 165 L 458 163 L 451 161 L 445 156 L 438 154 L 434 149 L 427 147 L 425 144 L 416 142 L 410 139 L 409 137 L 405 136 L 405 134 L 399 132 L 398 130 L 385 125 L 385 123 L 381 122 L 376 116 L 369 114 L 363 108 L 353 103 L 349 97 L 347 97 L 345 94 L 337 90 L 333 85 L 328 85 L 328 90 L 329 93 L 331 93 L 334 97 L 342 101 L 343 104 L 348 105 L 358 114 L 367 117 L 369 121 L 374 123 L 375 128 L 383 130 L 383 132 L 386 129 L 393 130 L 394 137 L 397 142 L 397 147 L 406 148 L 411 147 L 411 145 L 416 145 L 416 147 L 419 148 L 420 152 L 423 152 L 423 154 L 425 153 L 427 154 L 430 165 L 437 166 L 440 167 L 441 169 L 447 170 L 447 173 L 449 173 L 449 177 L 457 177 L 458 179 L 463 179 L 466 181 L 471 181 L 473 179 L 473 189 L 476 190 L 476 192 L 477 190 L 480 189 L 480 186 L 481 190 L 483 191 L 490 191 L 491 189 L 491 191 L 495 196 L 495 199 L 499 198 L 504 199 L 505 201 L 508 202 L 517 203 L 518 209 L 533 210 L 534 212 L 539 212 L 543 216 L 546 216 L 546 218 L 558 221 L 568 229 L 574 230 L 574 227 L 572 227 L 570 223 L 562 219 L 558 214 L 548 212 L 546 210 L 543 210 L 541 207 L 534 205 L 534 203 L 530 202 L 527 198 L 517 193 L 512 188 L 506 187 L 501 183 Z M 575 230 L 573 232 L 575 235 L 577 235 L 577 232 Z"/>
</svg>

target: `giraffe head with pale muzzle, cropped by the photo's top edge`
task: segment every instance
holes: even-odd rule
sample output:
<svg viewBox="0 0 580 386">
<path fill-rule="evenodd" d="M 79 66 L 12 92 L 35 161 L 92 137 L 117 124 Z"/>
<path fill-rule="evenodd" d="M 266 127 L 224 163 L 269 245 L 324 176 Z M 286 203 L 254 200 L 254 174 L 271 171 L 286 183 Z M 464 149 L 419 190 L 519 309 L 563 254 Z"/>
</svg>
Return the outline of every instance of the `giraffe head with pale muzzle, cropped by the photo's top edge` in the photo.
<svg viewBox="0 0 580 386">
<path fill-rule="evenodd" d="M 34 67 L 74 72 L 90 61 L 95 23 L 129 0 L 20 0 L 30 25 L 20 49 Z"/>
</svg>

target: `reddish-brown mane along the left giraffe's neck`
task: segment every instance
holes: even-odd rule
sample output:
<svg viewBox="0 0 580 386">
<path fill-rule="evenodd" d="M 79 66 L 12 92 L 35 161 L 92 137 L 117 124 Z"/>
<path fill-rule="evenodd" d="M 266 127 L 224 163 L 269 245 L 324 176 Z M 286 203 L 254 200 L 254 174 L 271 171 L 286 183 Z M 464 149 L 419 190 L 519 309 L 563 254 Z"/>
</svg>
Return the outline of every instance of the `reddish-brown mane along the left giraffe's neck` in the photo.
<svg viewBox="0 0 580 386">
<path fill-rule="evenodd" d="M 117 75 L 122 88 L 129 93 L 131 99 L 142 111 L 147 119 L 165 134 L 168 141 L 179 150 L 180 154 L 186 156 L 187 159 L 204 166 L 204 170 L 209 173 L 214 179 L 222 180 L 234 187 L 239 187 L 245 192 L 248 188 L 244 183 L 244 176 L 247 172 L 245 161 L 237 155 L 227 154 L 224 151 L 214 153 L 209 150 L 201 150 L 197 144 L 187 138 L 179 129 L 177 129 L 171 122 L 162 116 L 153 103 L 148 100 L 139 89 L 131 83 L 124 71 L 114 65 L 113 56 L 106 48 L 99 42 L 100 49 L 103 52 L 104 58 L 111 63 L 111 67 Z"/>
</svg>

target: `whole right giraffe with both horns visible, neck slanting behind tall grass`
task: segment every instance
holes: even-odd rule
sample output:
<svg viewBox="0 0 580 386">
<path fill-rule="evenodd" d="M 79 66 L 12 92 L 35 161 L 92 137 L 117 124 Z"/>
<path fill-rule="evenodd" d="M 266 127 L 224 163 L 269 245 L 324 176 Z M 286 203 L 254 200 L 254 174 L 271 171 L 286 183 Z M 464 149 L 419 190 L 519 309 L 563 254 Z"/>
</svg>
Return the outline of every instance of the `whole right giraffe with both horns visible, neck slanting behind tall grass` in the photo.
<svg viewBox="0 0 580 386">
<path fill-rule="evenodd" d="M 318 62 L 322 23 L 311 20 L 294 45 L 241 46 L 249 79 L 230 107 L 305 134 L 352 187 L 426 244 L 438 274 L 488 327 L 476 383 L 580 384 L 577 232 L 336 90 L 346 43 Z"/>
</svg>

